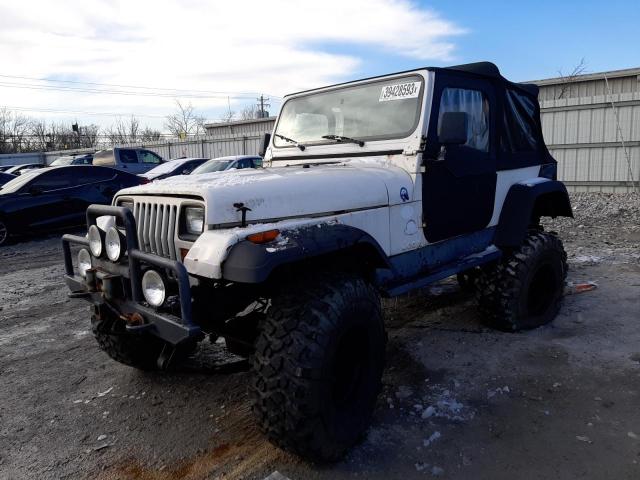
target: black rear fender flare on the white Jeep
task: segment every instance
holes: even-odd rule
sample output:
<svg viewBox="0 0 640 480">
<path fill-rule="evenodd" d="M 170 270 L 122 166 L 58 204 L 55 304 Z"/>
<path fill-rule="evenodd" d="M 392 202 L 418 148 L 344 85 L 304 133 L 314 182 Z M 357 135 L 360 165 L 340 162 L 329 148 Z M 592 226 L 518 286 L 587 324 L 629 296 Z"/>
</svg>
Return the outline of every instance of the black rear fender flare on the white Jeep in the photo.
<svg viewBox="0 0 640 480">
<path fill-rule="evenodd" d="M 567 188 L 557 180 L 536 179 L 513 185 L 505 198 L 496 230 L 495 244 L 520 245 L 531 225 L 540 217 L 572 217 Z"/>
</svg>

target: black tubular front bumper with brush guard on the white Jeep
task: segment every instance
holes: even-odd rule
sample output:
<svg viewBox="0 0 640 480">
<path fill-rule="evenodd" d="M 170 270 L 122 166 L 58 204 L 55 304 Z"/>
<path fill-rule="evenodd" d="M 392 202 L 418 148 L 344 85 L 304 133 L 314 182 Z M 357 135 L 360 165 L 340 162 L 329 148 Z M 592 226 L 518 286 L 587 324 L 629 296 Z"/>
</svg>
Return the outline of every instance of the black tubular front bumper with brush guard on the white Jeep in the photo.
<svg viewBox="0 0 640 480">
<path fill-rule="evenodd" d="M 96 224 L 103 215 L 112 215 L 121 220 L 127 242 L 128 268 L 105 259 L 92 258 L 96 265 L 86 278 L 76 275 L 71 257 L 71 244 L 88 247 L 89 240 L 77 235 L 62 237 L 64 252 L 65 283 L 71 297 L 84 298 L 91 302 L 97 314 L 107 310 L 127 322 L 131 333 L 149 332 L 173 345 L 202 336 L 200 328 L 193 323 L 191 311 L 191 287 L 189 274 L 177 260 L 160 257 L 138 248 L 136 222 L 131 210 L 126 207 L 91 205 L 87 209 L 87 228 Z M 158 312 L 143 304 L 141 279 L 143 268 L 155 267 L 170 272 L 178 285 L 180 316 Z M 96 277 L 100 281 L 96 281 Z M 127 279 L 129 288 L 113 288 L 120 285 L 121 277 Z M 135 315 L 135 316 L 134 316 Z M 135 321 L 134 321 L 135 320 Z M 142 320 L 142 321 L 140 321 Z"/>
</svg>

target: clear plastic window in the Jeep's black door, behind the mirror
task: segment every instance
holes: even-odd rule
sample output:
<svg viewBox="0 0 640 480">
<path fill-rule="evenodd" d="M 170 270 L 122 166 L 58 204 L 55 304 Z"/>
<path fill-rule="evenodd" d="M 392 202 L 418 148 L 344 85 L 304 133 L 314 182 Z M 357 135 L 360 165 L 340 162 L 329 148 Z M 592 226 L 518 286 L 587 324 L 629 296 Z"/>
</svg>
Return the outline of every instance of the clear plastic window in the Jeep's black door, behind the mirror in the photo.
<svg viewBox="0 0 640 480">
<path fill-rule="evenodd" d="M 440 97 L 438 134 L 445 112 L 467 114 L 467 141 L 463 146 L 481 152 L 489 151 L 489 100 L 479 90 L 445 88 Z"/>
</svg>

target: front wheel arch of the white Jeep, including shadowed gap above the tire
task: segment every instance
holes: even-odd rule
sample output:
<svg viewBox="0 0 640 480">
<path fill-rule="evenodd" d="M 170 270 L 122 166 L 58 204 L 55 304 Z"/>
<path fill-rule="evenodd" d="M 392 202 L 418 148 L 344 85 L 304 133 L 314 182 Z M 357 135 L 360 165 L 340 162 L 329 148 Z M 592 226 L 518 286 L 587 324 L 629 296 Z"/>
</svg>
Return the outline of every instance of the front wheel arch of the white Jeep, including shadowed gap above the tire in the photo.
<svg viewBox="0 0 640 480">
<path fill-rule="evenodd" d="M 368 233 L 349 225 L 320 224 L 283 231 L 284 240 L 255 244 L 237 243 L 222 265 L 225 280 L 262 283 L 278 272 L 320 263 L 330 269 L 336 263 L 347 269 L 391 268 L 388 257 Z"/>
</svg>

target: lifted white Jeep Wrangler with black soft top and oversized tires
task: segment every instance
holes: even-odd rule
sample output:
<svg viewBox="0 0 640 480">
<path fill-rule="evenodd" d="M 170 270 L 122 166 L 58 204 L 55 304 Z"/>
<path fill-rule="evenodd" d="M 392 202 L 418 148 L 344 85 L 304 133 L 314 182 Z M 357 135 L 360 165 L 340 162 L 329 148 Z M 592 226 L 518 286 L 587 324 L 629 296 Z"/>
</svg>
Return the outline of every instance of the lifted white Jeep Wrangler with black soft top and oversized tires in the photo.
<svg viewBox="0 0 640 480">
<path fill-rule="evenodd" d="M 381 296 L 458 274 L 497 328 L 557 314 L 566 254 L 539 220 L 572 212 L 537 87 L 478 63 L 296 93 L 264 160 L 123 190 L 89 207 L 86 238 L 63 237 L 111 357 L 166 368 L 223 337 L 253 362 L 267 436 L 333 460 L 376 404 Z"/>
</svg>

